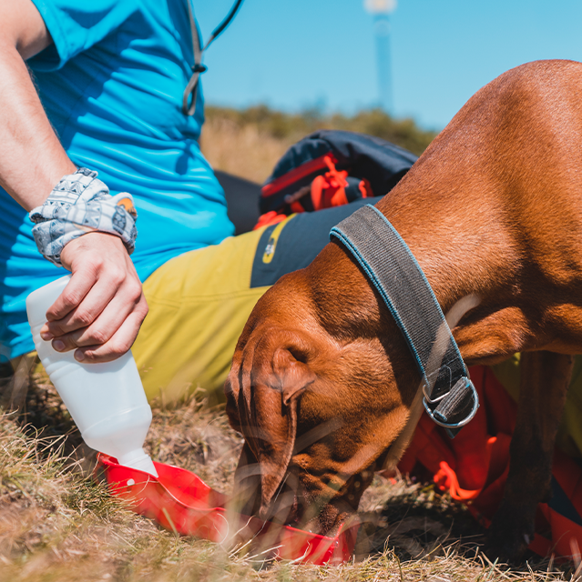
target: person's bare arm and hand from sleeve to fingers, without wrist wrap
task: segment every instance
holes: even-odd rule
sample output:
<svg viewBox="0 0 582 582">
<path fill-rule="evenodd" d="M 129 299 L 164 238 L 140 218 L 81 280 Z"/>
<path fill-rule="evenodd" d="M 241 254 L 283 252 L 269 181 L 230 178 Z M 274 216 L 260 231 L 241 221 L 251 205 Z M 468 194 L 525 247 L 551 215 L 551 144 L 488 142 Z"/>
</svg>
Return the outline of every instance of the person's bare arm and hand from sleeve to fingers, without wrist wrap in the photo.
<svg viewBox="0 0 582 582">
<path fill-rule="evenodd" d="M 46 117 L 23 60 L 51 42 L 30 0 L 0 3 L 0 186 L 28 211 L 77 169 Z M 73 276 L 47 311 L 41 335 L 53 339 L 59 351 L 76 349 L 77 359 L 87 362 L 121 356 L 148 312 L 121 239 L 88 233 L 69 242 L 61 260 Z"/>
</svg>

